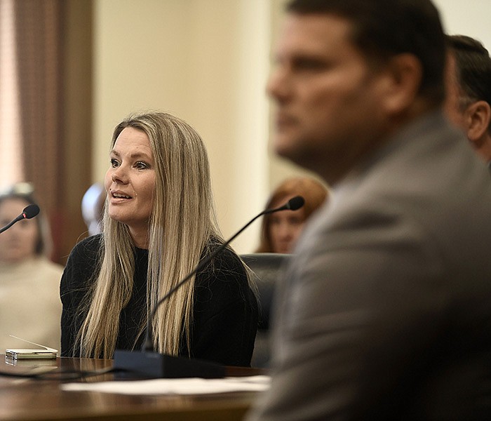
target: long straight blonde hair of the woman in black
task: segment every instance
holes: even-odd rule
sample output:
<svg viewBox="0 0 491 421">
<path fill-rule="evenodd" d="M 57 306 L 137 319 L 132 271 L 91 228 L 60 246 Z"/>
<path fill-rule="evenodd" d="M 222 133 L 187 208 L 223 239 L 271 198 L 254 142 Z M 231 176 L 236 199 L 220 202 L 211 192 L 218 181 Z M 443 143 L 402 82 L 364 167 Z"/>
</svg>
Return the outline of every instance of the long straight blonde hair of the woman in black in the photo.
<svg viewBox="0 0 491 421">
<path fill-rule="evenodd" d="M 135 114 L 116 126 L 111 147 L 126 127 L 146 133 L 154 154 L 156 181 L 149 220 L 148 316 L 156 302 L 196 267 L 210 237 L 221 239 L 221 235 L 213 205 L 208 154 L 194 128 L 162 112 Z M 128 227 L 109 218 L 107 210 L 103 225 L 100 272 L 88 295 L 83 310 L 88 312 L 77 337 L 83 357 L 112 357 L 119 314 L 133 290 L 135 246 Z M 154 348 L 159 352 L 177 355 L 184 334 L 189 353 L 193 293 L 194 277 L 159 307 L 152 321 Z M 140 333 L 144 328 L 145 325 L 141 326 Z"/>
</svg>

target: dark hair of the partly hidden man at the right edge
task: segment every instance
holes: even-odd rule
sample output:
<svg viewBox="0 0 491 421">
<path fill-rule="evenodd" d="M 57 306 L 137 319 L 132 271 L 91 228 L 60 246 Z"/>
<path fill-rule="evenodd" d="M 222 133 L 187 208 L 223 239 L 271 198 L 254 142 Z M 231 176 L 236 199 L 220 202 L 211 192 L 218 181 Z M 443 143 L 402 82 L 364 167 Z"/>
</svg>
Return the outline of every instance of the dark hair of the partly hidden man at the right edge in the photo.
<svg viewBox="0 0 491 421">
<path fill-rule="evenodd" d="M 466 104 L 486 101 L 491 105 L 490 53 L 477 39 L 465 35 L 448 35 L 448 46 L 455 57 L 459 88 Z"/>
</svg>

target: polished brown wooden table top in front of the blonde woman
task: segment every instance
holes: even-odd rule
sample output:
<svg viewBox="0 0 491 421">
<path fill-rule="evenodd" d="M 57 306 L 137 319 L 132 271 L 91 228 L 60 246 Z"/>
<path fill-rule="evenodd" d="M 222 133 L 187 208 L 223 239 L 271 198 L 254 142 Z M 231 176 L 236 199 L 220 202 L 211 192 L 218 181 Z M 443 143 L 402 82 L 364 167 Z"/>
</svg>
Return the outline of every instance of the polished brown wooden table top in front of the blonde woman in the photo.
<svg viewBox="0 0 491 421">
<path fill-rule="evenodd" d="M 0 370 L 33 373 L 51 369 L 98 370 L 112 360 L 58 358 L 51 361 L 25 360 L 13 365 L 0 354 Z M 227 375 L 254 375 L 255 368 L 227 368 Z M 113 380 L 110 374 L 84 382 Z M 73 380 L 68 380 L 73 381 Z M 135 396 L 100 392 L 65 392 L 60 380 L 0 377 L 0 420 L 242 420 L 257 392 L 187 396 Z"/>
</svg>

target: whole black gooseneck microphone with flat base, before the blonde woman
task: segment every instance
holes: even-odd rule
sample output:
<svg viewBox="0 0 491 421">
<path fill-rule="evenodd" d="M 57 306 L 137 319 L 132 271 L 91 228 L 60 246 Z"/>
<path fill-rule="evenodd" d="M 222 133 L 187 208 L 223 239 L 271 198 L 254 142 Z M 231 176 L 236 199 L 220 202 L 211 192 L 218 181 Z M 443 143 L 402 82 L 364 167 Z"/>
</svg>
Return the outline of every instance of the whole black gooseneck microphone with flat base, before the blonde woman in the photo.
<svg viewBox="0 0 491 421">
<path fill-rule="evenodd" d="M 177 283 L 173 288 L 170 288 L 168 293 L 164 295 L 150 312 L 147 320 L 147 330 L 145 334 L 145 341 L 142 347 L 142 352 L 132 352 L 121 349 L 116 349 L 114 351 L 114 364 L 113 367 L 116 370 L 122 370 L 128 373 L 128 371 L 136 373 L 137 375 L 142 375 L 144 377 L 204 377 L 204 378 L 216 378 L 224 377 L 225 370 L 224 366 L 213 363 L 211 361 L 202 361 L 198 359 L 188 359 L 178 356 L 170 356 L 165 354 L 158 354 L 154 352 L 154 342 L 152 338 L 152 321 L 154 320 L 155 314 L 163 302 L 168 300 L 168 298 L 175 293 L 181 286 L 184 285 L 189 279 L 191 279 L 196 272 L 199 272 L 203 267 L 208 265 L 210 260 L 215 258 L 215 256 L 220 253 L 224 248 L 226 248 L 231 241 L 233 241 L 236 236 L 241 234 L 245 228 L 252 224 L 257 218 L 262 215 L 267 215 L 269 213 L 279 212 L 281 210 L 297 210 L 304 206 L 305 200 L 302 196 L 295 196 L 286 202 L 283 206 L 279 208 L 266 209 L 261 213 L 257 214 L 252 220 L 245 224 L 241 229 L 238 230 L 233 236 L 231 236 L 227 241 L 222 243 L 220 247 L 210 253 L 206 258 L 201 260 L 196 267 L 189 272 L 184 278 Z"/>
</svg>

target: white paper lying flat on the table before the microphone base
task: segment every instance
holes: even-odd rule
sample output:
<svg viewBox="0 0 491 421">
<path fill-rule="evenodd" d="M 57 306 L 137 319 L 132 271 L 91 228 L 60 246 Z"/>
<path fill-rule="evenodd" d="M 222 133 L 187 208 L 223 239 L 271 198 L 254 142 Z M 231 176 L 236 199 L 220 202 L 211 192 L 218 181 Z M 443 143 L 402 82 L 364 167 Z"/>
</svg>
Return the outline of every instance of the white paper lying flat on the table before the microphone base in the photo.
<svg viewBox="0 0 491 421">
<path fill-rule="evenodd" d="M 269 389 L 270 382 L 271 377 L 268 375 L 253 375 L 248 377 L 224 377 L 222 379 L 191 377 L 181 379 L 65 383 L 60 385 L 60 387 L 66 391 L 116 394 L 213 394 L 245 391 L 262 392 Z"/>
</svg>

